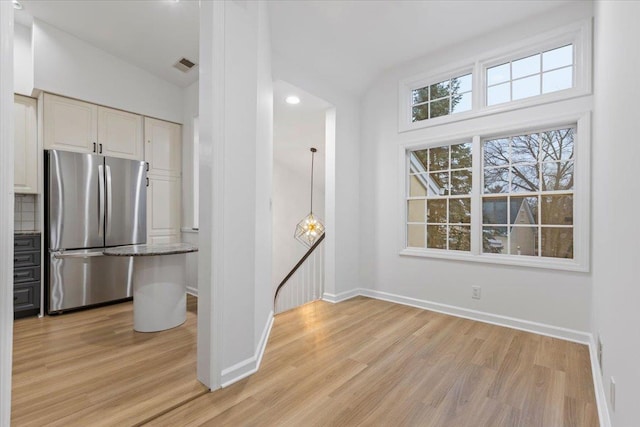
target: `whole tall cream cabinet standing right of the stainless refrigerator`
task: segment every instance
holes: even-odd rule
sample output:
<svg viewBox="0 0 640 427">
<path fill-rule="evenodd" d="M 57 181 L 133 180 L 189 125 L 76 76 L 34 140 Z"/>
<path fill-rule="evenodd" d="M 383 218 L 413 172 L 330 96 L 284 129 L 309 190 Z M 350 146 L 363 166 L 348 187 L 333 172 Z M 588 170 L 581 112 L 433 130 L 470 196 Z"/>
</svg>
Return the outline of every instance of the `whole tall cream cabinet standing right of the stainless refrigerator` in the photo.
<svg viewBox="0 0 640 427">
<path fill-rule="evenodd" d="M 147 243 L 180 241 L 181 126 L 144 118 L 147 177 Z"/>
</svg>

